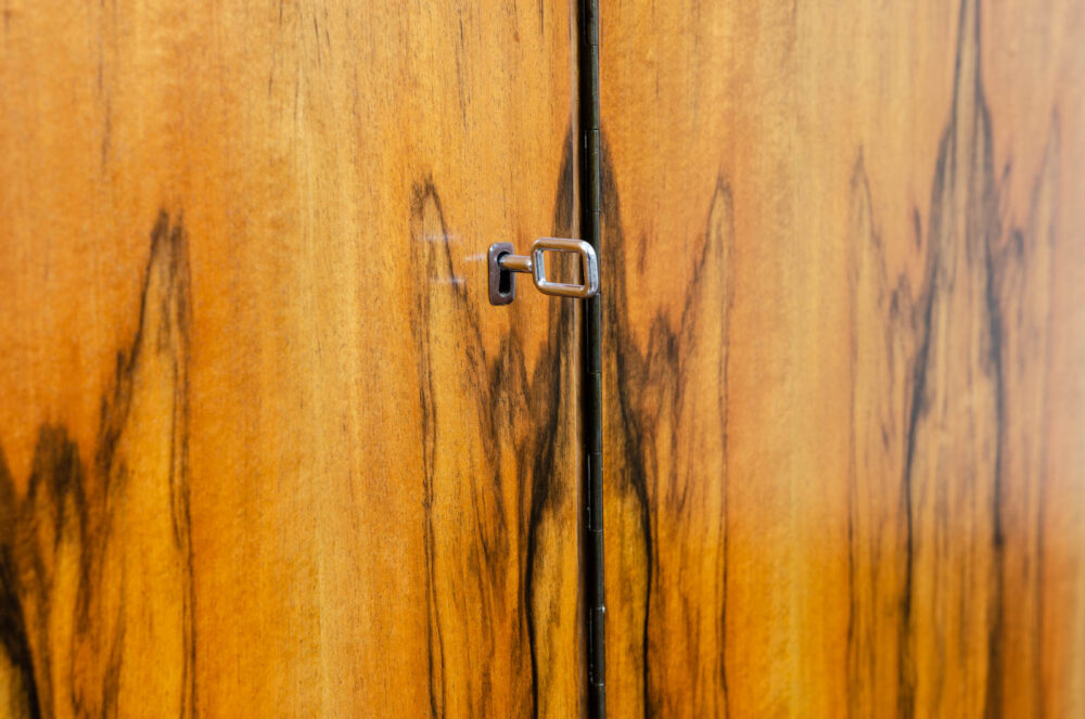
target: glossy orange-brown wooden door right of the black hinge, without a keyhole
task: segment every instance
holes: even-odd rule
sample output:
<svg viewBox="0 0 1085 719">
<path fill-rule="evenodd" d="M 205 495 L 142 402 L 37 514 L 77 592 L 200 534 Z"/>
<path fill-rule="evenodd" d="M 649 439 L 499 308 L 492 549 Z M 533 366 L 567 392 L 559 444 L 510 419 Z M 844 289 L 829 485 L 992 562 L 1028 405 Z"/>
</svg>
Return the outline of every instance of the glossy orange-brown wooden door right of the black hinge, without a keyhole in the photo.
<svg viewBox="0 0 1085 719">
<path fill-rule="evenodd" d="M 612 716 L 1085 712 L 1082 37 L 604 4 Z"/>
</svg>

